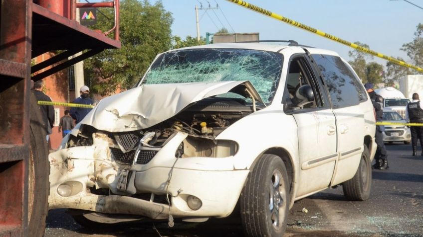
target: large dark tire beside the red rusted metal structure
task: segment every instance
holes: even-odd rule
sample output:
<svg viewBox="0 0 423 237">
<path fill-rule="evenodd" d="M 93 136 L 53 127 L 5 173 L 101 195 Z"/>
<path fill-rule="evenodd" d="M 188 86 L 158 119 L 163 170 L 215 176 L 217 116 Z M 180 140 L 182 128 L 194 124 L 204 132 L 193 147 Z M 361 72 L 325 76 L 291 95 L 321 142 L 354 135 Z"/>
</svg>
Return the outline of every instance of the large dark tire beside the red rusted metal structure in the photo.
<svg viewBox="0 0 423 237">
<path fill-rule="evenodd" d="M 30 95 L 28 159 L 28 235 L 42 237 L 48 213 L 50 165 L 46 131 L 35 95 Z"/>
</svg>

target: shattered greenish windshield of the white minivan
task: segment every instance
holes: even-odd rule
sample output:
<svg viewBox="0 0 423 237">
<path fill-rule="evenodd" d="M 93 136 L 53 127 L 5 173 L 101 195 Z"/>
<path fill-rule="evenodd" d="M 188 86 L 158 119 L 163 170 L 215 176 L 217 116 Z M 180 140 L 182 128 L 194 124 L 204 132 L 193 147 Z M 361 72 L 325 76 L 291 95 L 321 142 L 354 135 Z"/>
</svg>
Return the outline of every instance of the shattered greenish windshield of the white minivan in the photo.
<svg viewBox="0 0 423 237">
<path fill-rule="evenodd" d="M 267 104 L 275 94 L 282 55 L 248 49 L 188 49 L 162 54 L 143 83 L 249 80 Z"/>
</svg>

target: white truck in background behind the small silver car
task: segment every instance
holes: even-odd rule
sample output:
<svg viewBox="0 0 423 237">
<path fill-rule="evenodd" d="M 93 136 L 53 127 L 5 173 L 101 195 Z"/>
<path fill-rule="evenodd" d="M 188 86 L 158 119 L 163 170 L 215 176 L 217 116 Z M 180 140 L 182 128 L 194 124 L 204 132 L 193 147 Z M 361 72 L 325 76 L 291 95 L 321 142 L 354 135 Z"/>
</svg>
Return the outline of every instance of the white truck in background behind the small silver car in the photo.
<svg viewBox="0 0 423 237">
<path fill-rule="evenodd" d="M 384 87 L 375 89 L 375 92 L 384 98 L 383 107 L 390 107 L 391 110 L 397 111 L 403 118 L 405 117 L 406 106 L 410 100 L 400 90 L 394 87 Z"/>
</svg>

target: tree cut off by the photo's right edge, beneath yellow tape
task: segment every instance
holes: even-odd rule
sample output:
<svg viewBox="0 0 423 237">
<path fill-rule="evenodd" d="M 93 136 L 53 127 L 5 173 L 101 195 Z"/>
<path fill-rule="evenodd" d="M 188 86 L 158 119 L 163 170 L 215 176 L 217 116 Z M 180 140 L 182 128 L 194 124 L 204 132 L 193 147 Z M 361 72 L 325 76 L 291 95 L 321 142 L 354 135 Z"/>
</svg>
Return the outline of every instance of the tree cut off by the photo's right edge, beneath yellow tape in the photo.
<svg viewBox="0 0 423 237">
<path fill-rule="evenodd" d="M 423 65 L 423 24 L 417 25 L 417 30 L 414 33 L 415 38 L 412 42 L 403 44 L 401 50 L 406 51 L 413 63 L 422 67 Z"/>
</svg>

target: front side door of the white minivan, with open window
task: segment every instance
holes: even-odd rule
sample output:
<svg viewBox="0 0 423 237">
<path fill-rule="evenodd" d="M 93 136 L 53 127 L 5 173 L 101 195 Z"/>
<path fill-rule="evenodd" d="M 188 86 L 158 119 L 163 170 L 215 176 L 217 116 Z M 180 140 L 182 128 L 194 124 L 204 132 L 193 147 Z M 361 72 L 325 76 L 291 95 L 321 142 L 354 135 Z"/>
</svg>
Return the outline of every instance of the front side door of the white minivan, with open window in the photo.
<svg viewBox="0 0 423 237">
<path fill-rule="evenodd" d="M 296 55 L 290 61 L 285 104 L 304 84 L 313 88 L 314 101 L 285 109 L 285 113 L 292 114 L 298 127 L 300 180 L 297 197 L 327 188 L 338 158 L 336 120 L 327 95 L 322 93 L 322 85 L 316 80 L 306 55 Z"/>
</svg>

